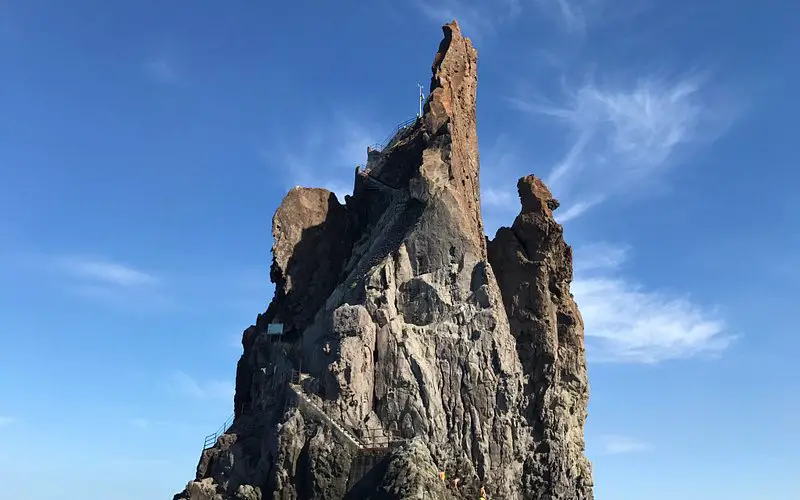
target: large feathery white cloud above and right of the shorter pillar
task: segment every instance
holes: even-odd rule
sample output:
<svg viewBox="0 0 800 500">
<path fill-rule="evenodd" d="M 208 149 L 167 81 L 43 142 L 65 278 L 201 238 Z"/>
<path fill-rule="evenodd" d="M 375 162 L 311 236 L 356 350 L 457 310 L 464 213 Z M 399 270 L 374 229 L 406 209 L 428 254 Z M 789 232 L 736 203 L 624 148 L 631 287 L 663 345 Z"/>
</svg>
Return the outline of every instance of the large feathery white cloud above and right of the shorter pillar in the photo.
<svg viewBox="0 0 800 500">
<path fill-rule="evenodd" d="M 560 215 L 565 222 L 612 195 L 657 185 L 689 146 L 718 137 L 735 109 L 722 96 L 708 77 L 688 74 L 649 76 L 632 85 L 589 82 L 567 88 L 556 103 L 539 98 L 510 102 L 566 127 L 572 137 L 546 179 L 566 201 L 568 214 Z M 578 200 L 574 207 L 573 199 Z"/>
</svg>

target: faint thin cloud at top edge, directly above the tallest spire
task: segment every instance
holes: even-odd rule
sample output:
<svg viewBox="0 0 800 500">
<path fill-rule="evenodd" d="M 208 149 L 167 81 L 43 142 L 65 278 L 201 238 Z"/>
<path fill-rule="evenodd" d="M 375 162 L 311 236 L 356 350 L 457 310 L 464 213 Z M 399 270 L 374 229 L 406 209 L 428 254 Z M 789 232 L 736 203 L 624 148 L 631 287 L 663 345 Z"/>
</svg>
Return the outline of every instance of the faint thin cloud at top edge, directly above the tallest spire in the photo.
<svg viewBox="0 0 800 500">
<path fill-rule="evenodd" d="M 520 0 L 414 0 L 414 5 L 435 23 L 457 20 L 464 36 L 475 40 L 494 34 L 522 11 Z"/>
</svg>

